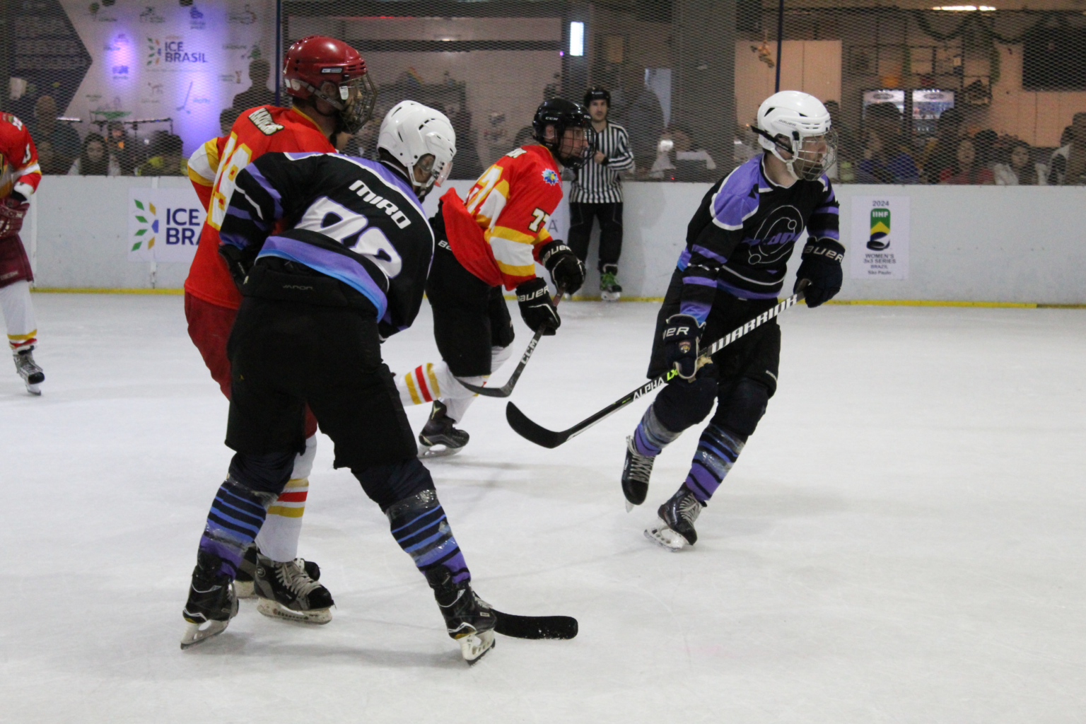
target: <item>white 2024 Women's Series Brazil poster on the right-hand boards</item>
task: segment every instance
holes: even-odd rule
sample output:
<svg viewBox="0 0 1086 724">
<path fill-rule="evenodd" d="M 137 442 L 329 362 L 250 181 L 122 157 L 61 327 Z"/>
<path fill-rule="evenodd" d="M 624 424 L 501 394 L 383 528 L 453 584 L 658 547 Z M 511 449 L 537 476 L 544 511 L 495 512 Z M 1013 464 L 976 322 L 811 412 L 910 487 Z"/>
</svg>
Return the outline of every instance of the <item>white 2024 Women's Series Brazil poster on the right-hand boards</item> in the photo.
<svg viewBox="0 0 1086 724">
<path fill-rule="evenodd" d="M 909 278 L 909 196 L 853 196 L 853 279 Z"/>
</svg>

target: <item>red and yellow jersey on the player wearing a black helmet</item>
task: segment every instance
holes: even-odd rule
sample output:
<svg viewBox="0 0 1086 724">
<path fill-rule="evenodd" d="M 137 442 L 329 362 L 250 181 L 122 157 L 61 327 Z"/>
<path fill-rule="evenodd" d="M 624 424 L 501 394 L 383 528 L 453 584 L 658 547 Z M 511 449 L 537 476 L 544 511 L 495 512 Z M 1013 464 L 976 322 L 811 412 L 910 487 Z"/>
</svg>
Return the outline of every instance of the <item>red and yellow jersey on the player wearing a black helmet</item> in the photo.
<svg viewBox="0 0 1086 724">
<path fill-rule="evenodd" d="M 539 247 L 561 201 L 561 176 L 542 145 L 514 149 L 479 177 L 466 201 L 441 198 L 449 245 L 464 268 L 491 287 L 535 278 Z"/>
</svg>

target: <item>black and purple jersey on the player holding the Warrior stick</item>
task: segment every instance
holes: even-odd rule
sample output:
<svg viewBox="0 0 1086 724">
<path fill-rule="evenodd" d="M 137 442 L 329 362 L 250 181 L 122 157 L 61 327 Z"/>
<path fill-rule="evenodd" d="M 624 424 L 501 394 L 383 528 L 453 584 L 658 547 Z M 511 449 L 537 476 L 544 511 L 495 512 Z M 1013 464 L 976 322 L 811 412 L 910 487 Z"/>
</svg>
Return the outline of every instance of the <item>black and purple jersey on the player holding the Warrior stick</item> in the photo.
<svg viewBox="0 0 1086 724">
<path fill-rule="evenodd" d="M 682 314 L 704 322 L 717 290 L 744 300 L 776 299 L 804 229 L 811 239 L 839 241 L 837 200 L 830 179 L 788 188 L 766 176 L 762 155 L 716 183 L 686 227 L 679 256 Z"/>
</svg>

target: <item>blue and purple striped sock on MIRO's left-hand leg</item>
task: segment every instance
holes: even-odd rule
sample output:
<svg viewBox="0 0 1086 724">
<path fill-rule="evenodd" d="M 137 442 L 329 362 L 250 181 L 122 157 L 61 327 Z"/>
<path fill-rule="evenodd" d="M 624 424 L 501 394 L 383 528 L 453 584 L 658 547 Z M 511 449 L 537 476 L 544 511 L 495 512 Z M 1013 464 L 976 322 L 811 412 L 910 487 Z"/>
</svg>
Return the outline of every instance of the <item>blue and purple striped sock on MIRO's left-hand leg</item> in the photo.
<svg viewBox="0 0 1086 724">
<path fill-rule="evenodd" d="M 216 574 L 237 577 L 244 550 L 260 532 L 267 507 L 275 498 L 273 493 L 251 491 L 232 478 L 219 485 L 200 537 L 200 550 L 223 561 Z"/>
</svg>

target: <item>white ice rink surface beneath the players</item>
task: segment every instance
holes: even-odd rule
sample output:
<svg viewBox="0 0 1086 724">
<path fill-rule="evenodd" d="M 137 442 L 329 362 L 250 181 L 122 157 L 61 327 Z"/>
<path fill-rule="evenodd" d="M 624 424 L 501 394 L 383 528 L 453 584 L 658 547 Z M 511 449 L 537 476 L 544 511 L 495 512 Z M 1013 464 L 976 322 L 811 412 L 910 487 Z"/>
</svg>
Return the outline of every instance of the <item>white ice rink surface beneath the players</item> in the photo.
<svg viewBox="0 0 1086 724">
<path fill-rule="evenodd" d="M 790 310 L 779 393 L 681 554 L 642 529 L 698 430 L 627 515 L 644 402 L 546 450 L 478 401 L 470 446 L 430 465 L 475 585 L 581 634 L 501 638 L 468 669 L 325 437 L 301 548 L 332 622 L 242 601 L 178 650 L 226 401 L 180 297 L 35 304 L 45 394 L 0 374 L 2 722 L 1086 721 L 1084 312 Z M 617 398 L 643 379 L 655 312 L 563 305 L 513 399 L 565 428 Z M 435 360 L 426 307 L 386 354 Z"/>
</svg>

